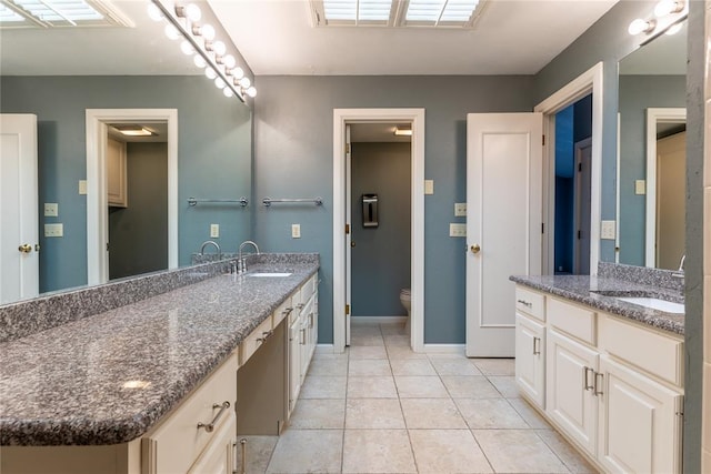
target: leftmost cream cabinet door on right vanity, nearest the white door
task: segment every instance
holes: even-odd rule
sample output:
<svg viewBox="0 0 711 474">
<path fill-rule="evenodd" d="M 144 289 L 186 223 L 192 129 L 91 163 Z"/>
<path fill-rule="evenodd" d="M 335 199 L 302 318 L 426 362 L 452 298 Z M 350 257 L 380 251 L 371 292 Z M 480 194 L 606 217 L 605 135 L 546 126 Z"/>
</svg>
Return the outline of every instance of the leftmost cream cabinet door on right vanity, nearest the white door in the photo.
<svg viewBox="0 0 711 474">
<path fill-rule="evenodd" d="M 515 381 L 530 401 L 545 402 L 545 327 L 515 314 Z"/>
</svg>

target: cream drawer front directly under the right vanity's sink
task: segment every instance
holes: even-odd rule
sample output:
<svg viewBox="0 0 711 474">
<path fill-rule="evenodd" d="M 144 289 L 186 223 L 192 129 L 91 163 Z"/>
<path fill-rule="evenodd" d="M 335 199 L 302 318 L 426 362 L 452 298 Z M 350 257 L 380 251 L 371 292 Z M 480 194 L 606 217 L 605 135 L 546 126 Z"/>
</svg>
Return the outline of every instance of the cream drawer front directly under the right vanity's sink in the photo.
<svg viewBox="0 0 711 474">
<path fill-rule="evenodd" d="M 683 386 L 683 341 L 614 316 L 600 319 L 600 349 L 674 385 Z"/>
</svg>

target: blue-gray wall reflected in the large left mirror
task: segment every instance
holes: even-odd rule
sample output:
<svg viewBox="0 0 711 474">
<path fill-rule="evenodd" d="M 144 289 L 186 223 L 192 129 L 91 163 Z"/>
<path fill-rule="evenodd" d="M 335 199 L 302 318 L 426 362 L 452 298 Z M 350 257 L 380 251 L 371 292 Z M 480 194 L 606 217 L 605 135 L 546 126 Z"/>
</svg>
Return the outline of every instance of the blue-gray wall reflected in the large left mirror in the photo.
<svg viewBox="0 0 711 474">
<path fill-rule="evenodd" d="M 250 196 L 251 111 L 192 77 L 2 77 L 0 112 L 38 117 L 39 205 L 59 203 L 63 239 L 40 236 L 40 291 L 87 283 L 86 109 L 178 109 L 180 264 L 221 224 L 223 250 L 251 235 L 250 211 L 238 205 L 189 208 L 187 199 Z M 42 213 L 40 212 L 40 215 Z M 40 218 L 40 229 L 44 223 Z M 41 234 L 41 232 L 40 232 Z"/>
</svg>

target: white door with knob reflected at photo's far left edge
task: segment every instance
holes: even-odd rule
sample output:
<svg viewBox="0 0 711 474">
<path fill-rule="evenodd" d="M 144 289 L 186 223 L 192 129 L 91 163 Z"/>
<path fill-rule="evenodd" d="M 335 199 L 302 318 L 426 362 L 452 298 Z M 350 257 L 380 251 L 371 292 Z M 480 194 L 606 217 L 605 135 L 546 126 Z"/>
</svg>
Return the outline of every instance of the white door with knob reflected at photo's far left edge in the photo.
<svg viewBox="0 0 711 474">
<path fill-rule="evenodd" d="M 0 304 L 39 293 L 37 115 L 0 114 Z"/>
</svg>

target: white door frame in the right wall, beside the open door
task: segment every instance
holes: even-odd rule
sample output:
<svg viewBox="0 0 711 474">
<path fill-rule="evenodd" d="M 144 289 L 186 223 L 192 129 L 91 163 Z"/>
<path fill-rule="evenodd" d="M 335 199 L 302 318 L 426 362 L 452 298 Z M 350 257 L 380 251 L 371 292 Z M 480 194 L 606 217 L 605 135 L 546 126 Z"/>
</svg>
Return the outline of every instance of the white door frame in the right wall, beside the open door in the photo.
<svg viewBox="0 0 711 474">
<path fill-rule="evenodd" d="M 590 274 L 598 274 L 600 261 L 600 216 L 602 183 L 602 105 L 603 63 L 595 65 L 570 81 L 533 108 L 543 113 L 543 238 L 541 273 L 553 274 L 555 269 L 555 113 L 592 93 L 592 151 L 590 179 Z"/>
</svg>

